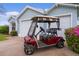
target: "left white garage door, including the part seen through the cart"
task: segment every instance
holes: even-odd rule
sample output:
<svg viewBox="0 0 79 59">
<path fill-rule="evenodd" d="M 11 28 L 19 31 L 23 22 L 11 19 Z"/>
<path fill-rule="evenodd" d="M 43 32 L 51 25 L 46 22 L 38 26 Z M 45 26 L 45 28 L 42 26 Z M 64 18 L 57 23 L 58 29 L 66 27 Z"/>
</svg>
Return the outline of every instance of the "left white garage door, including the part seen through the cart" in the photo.
<svg viewBox="0 0 79 59">
<path fill-rule="evenodd" d="M 32 21 L 22 21 L 20 25 L 20 37 L 24 37 L 28 34 L 30 25 Z M 35 34 L 37 34 L 40 31 L 40 26 L 43 26 L 43 24 L 38 24 L 38 28 L 35 31 Z"/>
</svg>

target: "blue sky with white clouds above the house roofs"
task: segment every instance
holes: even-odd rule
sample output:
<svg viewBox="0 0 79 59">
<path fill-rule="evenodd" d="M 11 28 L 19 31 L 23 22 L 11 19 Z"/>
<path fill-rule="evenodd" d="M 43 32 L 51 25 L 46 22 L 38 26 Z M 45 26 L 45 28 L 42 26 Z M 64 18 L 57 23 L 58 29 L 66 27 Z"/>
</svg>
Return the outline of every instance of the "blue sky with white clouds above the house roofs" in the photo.
<svg viewBox="0 0 79 59">
<path fill-rule="evenodd" d="M 3 3 L 0 5 L 3 7 L 3 10 L 5 11 L 5 14 L 0 14 L 0 25 L 9 24 L 9 16 L 18 15 L 21 12 L 21 10 L 27 5 L 41 9 L 48 9 L 53 6 L 52 3 Z"/>
</svg>

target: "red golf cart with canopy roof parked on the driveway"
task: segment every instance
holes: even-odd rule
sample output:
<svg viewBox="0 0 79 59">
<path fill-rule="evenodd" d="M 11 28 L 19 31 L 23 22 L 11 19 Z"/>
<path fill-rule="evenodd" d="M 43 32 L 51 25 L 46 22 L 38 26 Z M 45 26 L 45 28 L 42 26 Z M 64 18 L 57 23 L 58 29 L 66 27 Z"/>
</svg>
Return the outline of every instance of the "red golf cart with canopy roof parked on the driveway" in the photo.
<svg viewBox="0 0 79 59">
<path fill-rule="evenodd" d="M 24 52 L 27 55 L 31 55 L 38 48 L 44 48 L 49 46 L 56 46 L 58 48 L 64 47 L 63 37 L 58 36 L 57 31 L 60 29 L 60 21 L 57 17 L 51 16 L 36 16 L 33 17 L 28 36 L 24 37 Z M 39 26 L 39 24 L 47 24 L 48 27 Z M 51 28 L 52 23 L 56 23 L 57 28 Z M 53 26 L 52 26 L 53 27 Z M 36 33 L 36 29 L 40 30 Z M 39 37 L 39 39 L 38 39 Z"/>
</svg>

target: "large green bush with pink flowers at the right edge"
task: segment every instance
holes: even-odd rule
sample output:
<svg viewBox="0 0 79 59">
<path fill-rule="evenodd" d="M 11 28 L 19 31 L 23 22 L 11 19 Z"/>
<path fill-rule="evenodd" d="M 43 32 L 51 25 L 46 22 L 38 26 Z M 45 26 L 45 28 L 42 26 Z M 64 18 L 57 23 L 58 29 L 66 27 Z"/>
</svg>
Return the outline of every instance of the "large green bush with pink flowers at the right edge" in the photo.
<svg viewBox="0 0 79 59">
<path fill-rule="evenodd" d="M 79 53 L 79 26 L 66 29 L 65 36 L 68 47 Z"/>
</svg>

